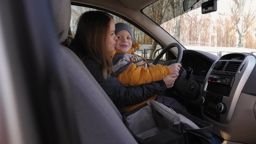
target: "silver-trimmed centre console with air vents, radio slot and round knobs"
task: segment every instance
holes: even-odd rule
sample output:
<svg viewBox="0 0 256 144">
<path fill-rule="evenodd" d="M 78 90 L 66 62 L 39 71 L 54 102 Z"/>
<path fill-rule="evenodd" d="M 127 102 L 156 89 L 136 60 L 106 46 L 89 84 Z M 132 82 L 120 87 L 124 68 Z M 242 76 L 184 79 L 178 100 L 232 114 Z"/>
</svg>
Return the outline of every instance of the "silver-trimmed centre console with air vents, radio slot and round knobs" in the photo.
<svg viewBox="0 0 256 144">
<path fill-rule="evenodd" d="M 234 142 L 255 142 L 255 80 L 256 56 L 252 54 L 226 54 L 210 66 L 198 102 L 214 134 Z"/>
</svg>

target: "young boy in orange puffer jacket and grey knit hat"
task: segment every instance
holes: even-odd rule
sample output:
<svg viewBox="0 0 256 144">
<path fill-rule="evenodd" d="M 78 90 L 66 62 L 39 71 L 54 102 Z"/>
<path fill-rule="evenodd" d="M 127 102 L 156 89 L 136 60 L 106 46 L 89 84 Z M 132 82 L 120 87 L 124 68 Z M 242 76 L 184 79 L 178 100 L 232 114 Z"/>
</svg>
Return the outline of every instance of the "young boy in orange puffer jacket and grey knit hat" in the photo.
<svg viewBox="0 0 256 144">
<path fill-rule="evenodd" d="M 125 23 L 115 24 L 117 36 L 115 51 L 110 52 L 118 80 L 126 86 L 137 86 L 162 80 L 168 74 L 176 74 L 181 64 L 151 66 L 145 58 L 134 54 L 132 48 L 133 30 Z"/>
</svg>

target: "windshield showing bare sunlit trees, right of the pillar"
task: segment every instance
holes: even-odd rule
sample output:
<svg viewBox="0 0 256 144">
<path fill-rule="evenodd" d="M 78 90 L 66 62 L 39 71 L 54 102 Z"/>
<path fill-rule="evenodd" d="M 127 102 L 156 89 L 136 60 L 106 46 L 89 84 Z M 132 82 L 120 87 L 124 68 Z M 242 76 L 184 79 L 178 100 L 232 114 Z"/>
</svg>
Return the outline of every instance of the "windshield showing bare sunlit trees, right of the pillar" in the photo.
<svg viewBox="0 0 256 144">
<path fill-rule="evenodd" d="M 255 0 L 218 0 L 216 12 L 202 14 L 201 8 L 184 12 L 183 0 L 158 0 L 143 12 L 186 49 L 256 54 L 255 5 Z"/>
</svg>

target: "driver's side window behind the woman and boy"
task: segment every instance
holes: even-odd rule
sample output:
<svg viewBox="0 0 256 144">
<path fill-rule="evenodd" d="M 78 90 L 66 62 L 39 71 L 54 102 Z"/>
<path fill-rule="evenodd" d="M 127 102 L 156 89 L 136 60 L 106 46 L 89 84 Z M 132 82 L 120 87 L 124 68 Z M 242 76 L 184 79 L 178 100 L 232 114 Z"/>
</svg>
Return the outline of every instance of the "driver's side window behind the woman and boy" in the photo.
<svg viewBox="0 0 256 144">
<path fill-rule="evenodd" d="M 90 11 L 90 10 L 96 10 L 96 9 L 86 8 L 86 7 L 83 7 L 83 6 L 74 6 L 74 5 L 71 6 L 70 29 L 71 29 L 73 37 L 76 34 L 76 27 L 77 27 L 79 17 L 84 12 Z M 146 59 L 148 59 L 148 60 L 154 60 L 154 58 L 160 52 L 160 50 L 157 50 L 157 49 L 160 49 L 161 46 L 159 44 L 157 44 L 152 38 L 150 38 L 147 34 L 142 32 L 141 30 L 139 30 L 138 28 L 136 28 L 135 26 L 133 26 L 129 22 L 126 22 L 125 20 L 123 20 L 122 18 L 120 18 L 118 16 L 115 16 L 115 15 L 112 15 L 112 16 L 114 17 L 114 21 L 116 23 L 124 22 L 124 23 L 128 24 L 133 29 L 133 32 L 134 32 L 134 42 L 133 43 L 134 44 L 138 43 L 139 46 L 140 46 L 140 49 L 136 50 L 135 53 L 144 57 L 144 58 L 146 58 Z M 153 54 L 154 54 L 154 56 L 153 56 Z M 161 58 L 161 60 L 166 61 L 165 54 Z"/>
</svg>

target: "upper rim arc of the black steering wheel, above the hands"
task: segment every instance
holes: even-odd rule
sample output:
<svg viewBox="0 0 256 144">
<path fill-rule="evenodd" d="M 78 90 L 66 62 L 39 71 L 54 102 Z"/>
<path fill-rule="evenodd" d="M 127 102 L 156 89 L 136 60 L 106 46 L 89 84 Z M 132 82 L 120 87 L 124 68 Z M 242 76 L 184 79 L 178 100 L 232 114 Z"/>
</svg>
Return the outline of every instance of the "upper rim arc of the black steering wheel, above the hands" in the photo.
<svg viewBox="0 0 256 144">
<path fill-rule="evenodd" d="M 161 52 L 160 54 L 158 54 L 158 56 L 156 57 L 156 59 L 154 60 L 154 62 L 152 64 L 156 65 L 160 58 L 162 58 L 162 56 L 168 51 L 170 50 L 171 48 L 174 48 L 174 47 L 177 47 L 178 48 L 178 54 L 177 54 L 177 59 L 175 61 L 175 63 L 180 63 L 181 62 L 181 59 L 182 59 L 182 53 L 183 53 L 183 50 L 182 50 L 182 47 L 180 44 L 178 43 L 171 43 L 169 44 L 168 46 L 166 46 Z"/>
</svg>

